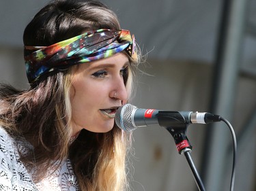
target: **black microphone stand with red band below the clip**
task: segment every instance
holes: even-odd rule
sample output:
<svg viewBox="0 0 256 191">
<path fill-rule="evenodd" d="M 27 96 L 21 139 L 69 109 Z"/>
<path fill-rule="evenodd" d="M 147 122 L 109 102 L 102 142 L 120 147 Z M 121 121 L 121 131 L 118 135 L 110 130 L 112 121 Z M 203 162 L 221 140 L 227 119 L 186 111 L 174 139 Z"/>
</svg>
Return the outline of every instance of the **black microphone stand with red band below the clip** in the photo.
<svg viewBox="0 0 256 191">
<path fill-rule="evenodd" d="M 197 188 L 199 188 L 200 191 L 205 191 L 203 181 L 201 180 L 201 177 L 197 172 L 195 164 L 190 156 L 190 152 L 192 151 L 192 145 L 190 144 L 188 138 L 186 137 L 187 127 L 188 124 L 186 123 L 177 124 L 177 126 L 167 127 L 167 131 L 169 131 L 169 133 L 171 133 L 171 135 L 173 136 L 179 154 L 184 154 L 184 156 L 186 157 L 189 167 L 193 173 L 194 179 L 197 183 Z"/>
</svg>

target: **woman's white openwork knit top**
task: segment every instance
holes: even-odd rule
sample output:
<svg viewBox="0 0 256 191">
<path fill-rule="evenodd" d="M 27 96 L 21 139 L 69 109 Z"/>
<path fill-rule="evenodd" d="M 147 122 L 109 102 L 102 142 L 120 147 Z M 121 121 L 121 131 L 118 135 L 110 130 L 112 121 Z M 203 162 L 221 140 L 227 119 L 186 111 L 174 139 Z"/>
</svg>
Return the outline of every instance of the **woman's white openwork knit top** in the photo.
<svg viewBox="0 0 256 191">
<path fill-rule="evenodd" d="M 23 163 L 19 160 L 20 156 L 18 154 L 18 150 L 22 153 L 26 152 L 23 145 L 24 142 L 21 143 L 12 139 L 12 137 L 10 137 L 10 135 L 0 127 L 0 190 L 79 190 L 76 177 L 72 170 L 72 165 L 68 159 L 63 162 L 59 169 L 54 173 L 49 169 L 46 178 L 35 184 L 32 179 L 33 173 L 28 173 Z"/>
</svg>

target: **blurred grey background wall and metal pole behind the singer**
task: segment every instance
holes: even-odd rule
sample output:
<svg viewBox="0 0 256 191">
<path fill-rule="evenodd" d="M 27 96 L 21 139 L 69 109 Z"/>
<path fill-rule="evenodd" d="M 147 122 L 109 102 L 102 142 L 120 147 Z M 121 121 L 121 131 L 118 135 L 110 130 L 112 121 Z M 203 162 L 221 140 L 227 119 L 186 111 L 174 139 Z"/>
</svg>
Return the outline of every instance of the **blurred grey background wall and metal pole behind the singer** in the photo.
<svg viewBox="0 0 256 191">
<path fill-rule="evenodd" d="M 0 1 L 0 81 L 28 88 L 23 30 L 46 0 Z M 210 111 L 236 131 L 234 190 L 256 190 L 256 1 L 104 0 L 147 56 L 132 104 Z M 188 162 L 162 127 L 133 132 L 133 190 L 198 190 Z M 190 153 L 208 191 L 229 190 L 232 137 L 223 122 L 190 124 Z"/>
</svg>

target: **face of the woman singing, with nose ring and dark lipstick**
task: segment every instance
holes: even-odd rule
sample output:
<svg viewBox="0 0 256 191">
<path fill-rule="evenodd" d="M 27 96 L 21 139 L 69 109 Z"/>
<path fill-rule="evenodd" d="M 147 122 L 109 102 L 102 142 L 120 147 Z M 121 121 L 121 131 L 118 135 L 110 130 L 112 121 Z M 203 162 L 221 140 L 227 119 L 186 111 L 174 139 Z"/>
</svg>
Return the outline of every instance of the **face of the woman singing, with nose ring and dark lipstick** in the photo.
<svg viewBox="0 0 256 191">
<path fill-rule="evenodd" d="M 79 65 L 72 78 L 71 107 L 75 135 L 81 129 L 110 131 L 115 112 L 128 99 L 124 75 L 129 60 L 117 53 L 109 58 Z"/>
</svg>

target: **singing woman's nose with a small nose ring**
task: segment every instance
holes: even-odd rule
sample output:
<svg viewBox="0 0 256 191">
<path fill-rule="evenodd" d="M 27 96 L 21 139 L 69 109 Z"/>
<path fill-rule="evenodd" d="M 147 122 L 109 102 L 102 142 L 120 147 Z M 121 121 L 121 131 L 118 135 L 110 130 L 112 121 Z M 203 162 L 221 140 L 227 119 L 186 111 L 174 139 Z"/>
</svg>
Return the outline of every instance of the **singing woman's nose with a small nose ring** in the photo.
<svg viewBox="0 0 256 191">
<path fill-rule="evenodd" d="M 121 101 L 127 101 L 128 92 L 122 76 L 114 80 L 113 90 L 111 90 L 110 97 Z"/>
</svg>

